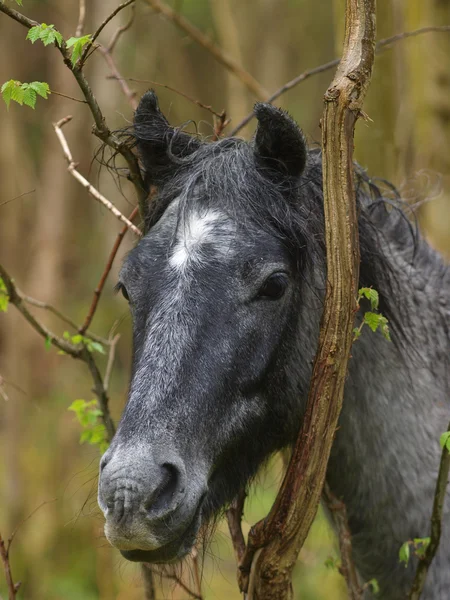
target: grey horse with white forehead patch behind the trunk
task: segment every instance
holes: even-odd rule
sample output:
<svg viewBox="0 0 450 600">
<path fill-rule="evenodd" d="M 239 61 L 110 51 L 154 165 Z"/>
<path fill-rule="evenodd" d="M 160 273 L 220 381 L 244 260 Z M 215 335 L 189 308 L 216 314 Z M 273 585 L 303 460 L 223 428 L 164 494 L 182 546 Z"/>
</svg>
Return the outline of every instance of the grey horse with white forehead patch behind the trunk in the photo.
<svg viewBox="0 0 450 600">
<path fill-rule="evenodd" d="M 286 112 L 257 103 L 255 116 L 252 141 L 208 141 L 172 127 L 153 91 L 135 112 L 157 196 L 119 276 L 132 374 L 98 495 L 106 537 L 131 561 L 185 556 L 302 423 L 326 285 L 322 157 Z M 418 560 L 405 567 L 399 549 L 429 535 L 450 414 L 450 271 L 357 164 L 355 189 L 359 285 L 378 291 L 392 341 L 362 330 L 353 344 L 326 478 L 361 582 L 399 600 Z M 449 597 L 449 512 L 447 498 L 424 600 Z"/>
</svg>

